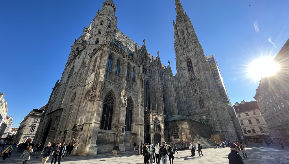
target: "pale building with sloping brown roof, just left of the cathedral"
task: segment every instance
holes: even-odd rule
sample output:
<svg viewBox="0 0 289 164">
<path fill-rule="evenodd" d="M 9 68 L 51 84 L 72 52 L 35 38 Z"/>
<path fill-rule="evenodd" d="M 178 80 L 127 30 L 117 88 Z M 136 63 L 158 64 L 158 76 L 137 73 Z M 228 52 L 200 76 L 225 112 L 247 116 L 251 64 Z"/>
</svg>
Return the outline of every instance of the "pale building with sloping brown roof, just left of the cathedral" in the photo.
<svg viewBox="0 0 289 164">
<path fill-rule="evenodd" d="M 14 143 L 29 143 L 33 141 L 45 106 L 42 106 L 40 109 L 31 110 L 24 117 L 14 137 Z"/>
</svg>

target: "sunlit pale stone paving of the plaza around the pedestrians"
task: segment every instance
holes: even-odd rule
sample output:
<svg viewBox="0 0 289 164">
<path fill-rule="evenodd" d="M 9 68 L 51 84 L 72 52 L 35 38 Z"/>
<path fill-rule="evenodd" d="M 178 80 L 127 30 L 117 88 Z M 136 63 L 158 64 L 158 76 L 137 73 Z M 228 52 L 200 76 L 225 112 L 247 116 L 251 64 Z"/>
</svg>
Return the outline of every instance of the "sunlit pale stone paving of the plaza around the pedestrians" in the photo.
<svg viewBox="0 0 289 164">
<path fill-rule="evenodd" d="M 285 146 L 282 149 L 279 144 L 270 145 L 266 144 L 249 143 L 246 148 L 249 159 L 243 159 L 245 164 L 289 164 L 289 147 Z M 174 154 L 174 163 L 198 163 L 198 164 L 222 164 L 229 163 L 228 154 L 230 148 L 207 147 L 203 148 L 203 158 L 197 156 L 190 157 L 190 150 L 179 150 L 179 154 Z M 197 151 L 196 151 L 197 154 Z M 12 152 L 10 158 L 7 158 L 4 163 L 16 164 L 22 163 L 20 153 Z M 242 156 L 242 153 L 240 154 Z M 47 164 L 50 164 L 52 158 L 49 158 Z M 41 164 L 42 155 L 34 153 L 32 158 L 27 161 L 27 164 Z M 121 153 L 120 155 L 112 155 L 111 153 L 99 153 L 95 156 L 65 156 L 62 158 L 61 164 L 141 164 L 143 163 L 143 156 L 138 155 L 138 151 L 129 150 Z M 168 160 L 169 163 L 169 160 Z"/>
</svg>

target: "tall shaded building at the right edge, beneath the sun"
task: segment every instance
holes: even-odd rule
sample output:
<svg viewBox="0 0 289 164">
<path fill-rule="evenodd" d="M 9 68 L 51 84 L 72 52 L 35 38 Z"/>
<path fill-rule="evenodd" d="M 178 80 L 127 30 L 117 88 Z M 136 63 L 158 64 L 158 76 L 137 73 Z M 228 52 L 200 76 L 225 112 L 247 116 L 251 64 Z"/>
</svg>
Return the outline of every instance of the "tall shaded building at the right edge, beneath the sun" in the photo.
<svg viewBox="0 0 289 164">
<path fill-rule="evenodd" d="M 262 77 L 254 99 L 264 115 L 275 142 L 289 144 L 289 39 L 274 61 L 280 70 L 270 77 Z"/>
</svg>

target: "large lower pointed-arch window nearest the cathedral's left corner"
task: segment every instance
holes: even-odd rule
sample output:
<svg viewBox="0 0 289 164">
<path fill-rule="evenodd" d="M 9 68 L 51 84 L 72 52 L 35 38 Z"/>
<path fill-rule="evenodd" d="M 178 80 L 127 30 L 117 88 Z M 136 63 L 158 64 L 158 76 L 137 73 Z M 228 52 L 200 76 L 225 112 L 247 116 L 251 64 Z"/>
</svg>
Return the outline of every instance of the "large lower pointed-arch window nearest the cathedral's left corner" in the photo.
<svg viewBox="0 0 289 164">
<path fill-rule="evenodd" d="M 110 92 L 107 94 L 107 96 L 105 96 L 104 99 L 100 129 L 111 130 L 113 109 L 114 96 L 112 92 Z"/>
</svg>

